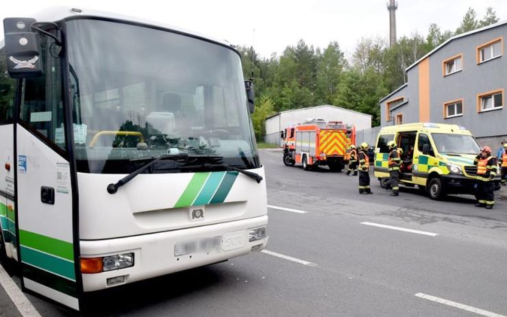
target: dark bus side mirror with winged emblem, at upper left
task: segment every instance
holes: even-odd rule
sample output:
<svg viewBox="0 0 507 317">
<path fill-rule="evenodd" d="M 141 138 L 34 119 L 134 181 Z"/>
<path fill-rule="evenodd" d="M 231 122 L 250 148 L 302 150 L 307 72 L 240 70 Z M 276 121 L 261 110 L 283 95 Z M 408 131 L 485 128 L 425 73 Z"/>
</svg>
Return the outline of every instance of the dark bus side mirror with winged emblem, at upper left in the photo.
<svg viewBox="0 0 507 317">
<path fill-rule="evenodd" d="M 34 22 L 34 18 L 3 19 L 7 70 L 12 78 L 42 75 L 40 44 L 31 27 Z"/>
</svg>

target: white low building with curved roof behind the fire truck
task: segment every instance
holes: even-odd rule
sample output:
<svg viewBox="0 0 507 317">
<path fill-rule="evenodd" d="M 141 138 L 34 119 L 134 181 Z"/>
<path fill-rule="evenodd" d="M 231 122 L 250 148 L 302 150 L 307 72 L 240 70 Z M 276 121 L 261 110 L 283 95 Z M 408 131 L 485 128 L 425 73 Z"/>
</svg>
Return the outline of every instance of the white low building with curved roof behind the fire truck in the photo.
<svg viewBox="0 0 507 317">
<path fill-rule="evenodd" d="M 348 110 L 336 105 L 317 105 L 315 107 L 286 110 L 269 116 L 264 125 L 266 134 L 264 142 L 281 144 L 280 131 L 289 125 L 297 125 L 306 119 L 324 119 L 325 121 L 343 121 L 356 125 L 356 131 L 371 128 L 371 115 Z"/>
</svg>

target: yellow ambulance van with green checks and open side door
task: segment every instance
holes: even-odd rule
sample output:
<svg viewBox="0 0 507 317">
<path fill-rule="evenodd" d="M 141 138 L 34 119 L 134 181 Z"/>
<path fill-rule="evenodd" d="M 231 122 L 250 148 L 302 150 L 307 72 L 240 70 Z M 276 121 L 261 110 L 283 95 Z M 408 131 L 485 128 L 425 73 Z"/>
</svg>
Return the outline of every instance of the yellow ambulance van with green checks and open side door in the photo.
<svg viewBox="0 0 507 317">
<path fill-rule="evenodd" d="M 382 188 L 388 186 L 387 143 L 393 140 L 403 151 L 399 183 L 408 187 L 417 185 L 432 199 L 474 193 L 477 167 L 473 160 L 480 145 L 465 127 L 441 123 L 383 127 L 377 137 L 373 168 Z M 495 190 L 499 187 L 497 177 Z"/>
</svg>

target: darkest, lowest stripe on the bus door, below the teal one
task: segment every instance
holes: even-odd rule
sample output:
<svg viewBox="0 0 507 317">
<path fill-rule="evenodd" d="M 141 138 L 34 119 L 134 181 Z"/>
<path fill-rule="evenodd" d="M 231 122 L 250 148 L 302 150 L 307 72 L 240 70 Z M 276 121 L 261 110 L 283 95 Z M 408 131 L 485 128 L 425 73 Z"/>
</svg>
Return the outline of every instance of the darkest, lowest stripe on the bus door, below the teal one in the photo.
<svg viewBox="0 0 507 317">
<path fill-rule="evenodd" d="M 21 269 L 23 270 L 23 277 L 31 279 L 32 281 L 36 281 L 37 283 L 52 288 L 53 290 L 58 290 L 58 292 L 62 292 L 64 294 L 77 298 L 78 293 L 76 289 L 76 283 L 74 281 L 69 281 L 68 279 L 64 279 L 58 275 L 51 274 L 45 270 L 34 268 L 34 266 L 29 266 L 28 264 L 23 263 L 21 265 Z"/>
</svg>

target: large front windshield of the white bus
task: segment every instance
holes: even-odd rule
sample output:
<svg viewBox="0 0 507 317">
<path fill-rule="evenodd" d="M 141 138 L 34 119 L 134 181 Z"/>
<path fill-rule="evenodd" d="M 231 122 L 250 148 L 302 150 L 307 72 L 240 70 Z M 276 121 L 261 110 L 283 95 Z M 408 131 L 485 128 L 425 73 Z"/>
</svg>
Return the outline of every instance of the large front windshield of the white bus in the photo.
<svg viewBox="0 0 507 317">
<path fill-rule="evenodd" d="M 68 21 L 66 35 L 78 172 L 130 173 L 177 153 L 259 166 L 238 53 L 110 21 Z"/>
</svg>

